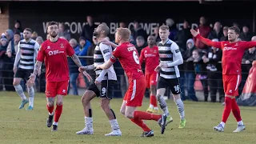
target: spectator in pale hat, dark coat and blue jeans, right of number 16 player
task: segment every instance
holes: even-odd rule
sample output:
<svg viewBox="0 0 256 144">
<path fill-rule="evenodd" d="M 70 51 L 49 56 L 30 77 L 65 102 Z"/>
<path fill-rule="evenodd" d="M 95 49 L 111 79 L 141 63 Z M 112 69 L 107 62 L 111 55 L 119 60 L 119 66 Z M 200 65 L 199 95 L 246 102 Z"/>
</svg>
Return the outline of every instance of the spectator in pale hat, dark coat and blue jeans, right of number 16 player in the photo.
<svg viewBox="0 0 256 144">
<path fill-rule="evenodd" d="M 184 59 L 184 70 L 185 70 L 185 89 L 187 90 L 188 97 L 192 101 L 198 101 L 198 98 L 195 96 L 194 91 L 194 82 L 195 82 L 195 74 L 194 74 L 194 58 L 192 56 L 192 52 L 196 50 L 194 46 L 194 41 L 192 38 L 186 41 L 186 51 L 183 56 Z M 185 100 L 185 94 L 182 94 L 182 99 Z"/>
</svg>

